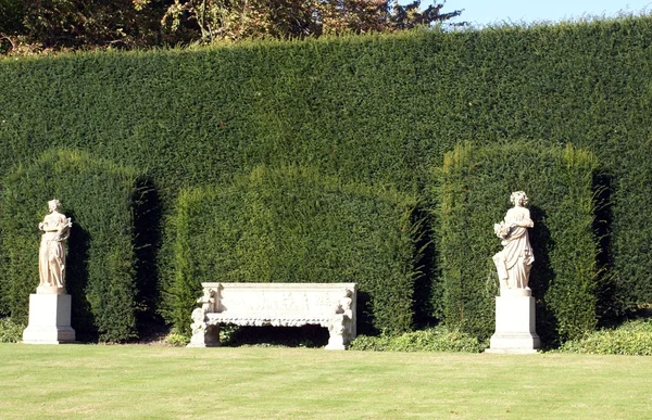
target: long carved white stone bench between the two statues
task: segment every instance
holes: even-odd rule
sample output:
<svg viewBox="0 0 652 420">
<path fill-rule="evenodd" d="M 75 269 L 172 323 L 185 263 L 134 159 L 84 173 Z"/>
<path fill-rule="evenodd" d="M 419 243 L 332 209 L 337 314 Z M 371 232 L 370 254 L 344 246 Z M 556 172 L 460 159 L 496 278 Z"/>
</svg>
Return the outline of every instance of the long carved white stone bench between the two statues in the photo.
<svg viewBox="0 0 652 420">
<path fill-rule="evenodd" d="M 201 283 L 188 347 L 220 345 L 220 324 L 328 329 L 327 349 L 355 339 L 355 283 Z"/>
</svg>

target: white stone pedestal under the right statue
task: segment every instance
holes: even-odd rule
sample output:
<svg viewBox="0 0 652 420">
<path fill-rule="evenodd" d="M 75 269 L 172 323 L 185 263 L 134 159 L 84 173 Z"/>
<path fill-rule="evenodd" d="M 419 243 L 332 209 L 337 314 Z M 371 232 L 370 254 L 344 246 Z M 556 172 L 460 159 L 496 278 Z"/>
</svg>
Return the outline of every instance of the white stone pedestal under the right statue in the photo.
<svg viewBox="0 0 652 420">
<path fill-rule="evenodd" d="M 485 353 L 537 353 L 540 340 L 535 321 L 535 298 L 529 289 L 501 292 L 496 297 L 496 333 Z"/>
</svg>

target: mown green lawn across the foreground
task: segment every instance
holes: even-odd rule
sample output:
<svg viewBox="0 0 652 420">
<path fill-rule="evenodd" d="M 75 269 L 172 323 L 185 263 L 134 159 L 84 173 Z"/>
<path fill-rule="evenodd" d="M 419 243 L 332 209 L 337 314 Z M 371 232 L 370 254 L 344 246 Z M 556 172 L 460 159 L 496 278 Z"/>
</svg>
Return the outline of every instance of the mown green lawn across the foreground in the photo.
<svg viewBox="0 0 652 420">
<path fill-rule="evenodd" d="M 649 418 L 652 359 L 0 344 L 0 417 Z"/>
</svg>

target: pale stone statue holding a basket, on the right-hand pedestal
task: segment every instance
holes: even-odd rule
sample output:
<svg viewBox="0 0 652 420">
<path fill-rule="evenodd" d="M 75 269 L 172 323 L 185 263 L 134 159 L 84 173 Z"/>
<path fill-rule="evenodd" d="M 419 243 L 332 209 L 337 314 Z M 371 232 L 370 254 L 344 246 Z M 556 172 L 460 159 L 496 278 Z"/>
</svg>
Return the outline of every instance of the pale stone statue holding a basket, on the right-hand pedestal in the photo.
<svg viewBox="0 0 652 420">
<path fill-rule="evenodd" d="M 522 289 L 529 292 L 529 271 L 535 262 L 527 228 L 535 226 L 530 219 L 527 195 L 523 191 L 513 192 L 510 201 L 514 207 L 507 211 L 505 219 L 493 225 L 493 231 L 502 239 L 503 250 L 493 256 L 498 270 L 501 294 L 504 290 Z"/>
</svg>

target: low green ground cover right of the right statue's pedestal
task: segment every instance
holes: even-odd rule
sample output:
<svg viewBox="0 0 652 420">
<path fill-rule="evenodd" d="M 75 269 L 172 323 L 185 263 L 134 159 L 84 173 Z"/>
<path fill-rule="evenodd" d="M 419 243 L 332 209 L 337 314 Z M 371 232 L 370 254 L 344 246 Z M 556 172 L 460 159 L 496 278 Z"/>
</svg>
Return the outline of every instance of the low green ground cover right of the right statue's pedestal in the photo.
<svg viewBox="0 0 652 420">
<path fill-rule="evenodd" d="M 559 352 L 593 355 L 652 356 L 652 320 L 627 321 L 567 341 Z"/>
</svg>

